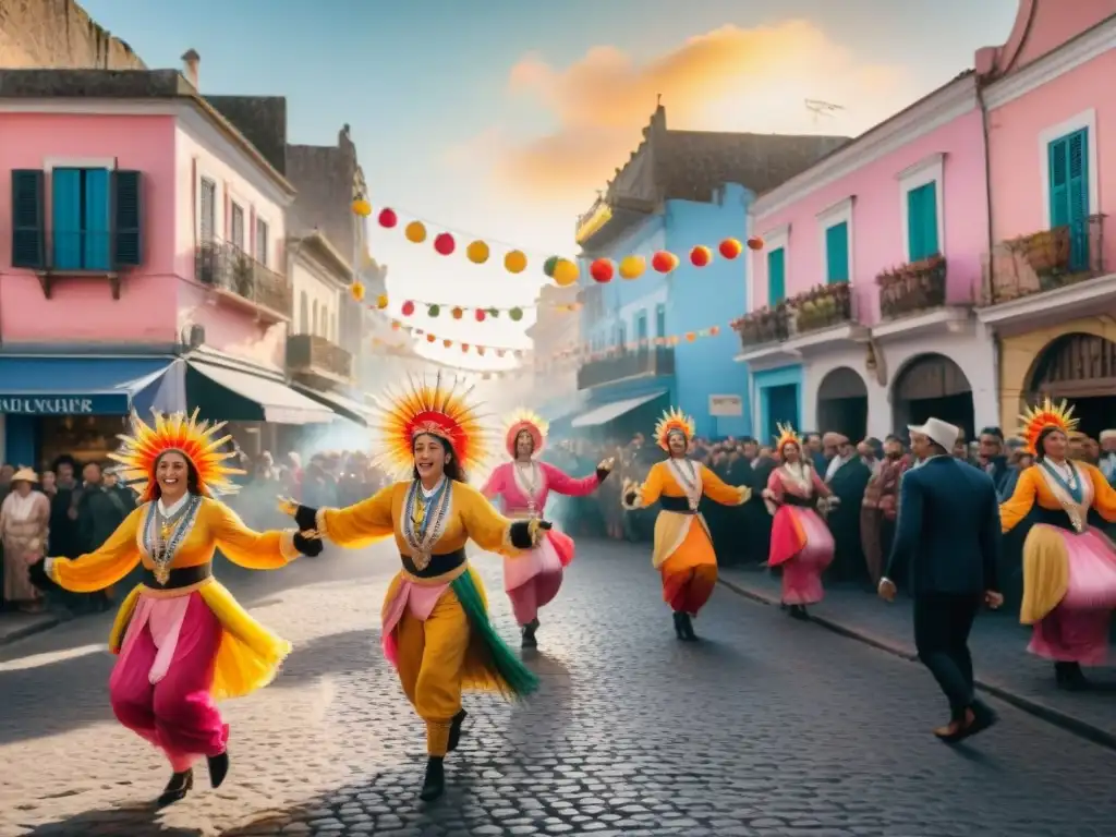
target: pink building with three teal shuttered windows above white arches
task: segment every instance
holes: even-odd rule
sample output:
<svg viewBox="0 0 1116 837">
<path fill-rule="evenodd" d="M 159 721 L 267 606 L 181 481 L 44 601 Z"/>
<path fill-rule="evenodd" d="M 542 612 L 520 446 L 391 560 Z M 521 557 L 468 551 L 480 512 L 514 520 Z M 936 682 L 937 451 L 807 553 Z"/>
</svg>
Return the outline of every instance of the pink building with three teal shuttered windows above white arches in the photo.
<svg viewBox="0 0 1116 837">
<path fill-rule="evenodd" d="M 985 182 L 966 73 L 756 200 L 764 248 L 738 359 L 761 437 L 786 421 L 857 440 L 931 414 L 994 423 L 992 345 L 971 314 Z"/>
</svg>

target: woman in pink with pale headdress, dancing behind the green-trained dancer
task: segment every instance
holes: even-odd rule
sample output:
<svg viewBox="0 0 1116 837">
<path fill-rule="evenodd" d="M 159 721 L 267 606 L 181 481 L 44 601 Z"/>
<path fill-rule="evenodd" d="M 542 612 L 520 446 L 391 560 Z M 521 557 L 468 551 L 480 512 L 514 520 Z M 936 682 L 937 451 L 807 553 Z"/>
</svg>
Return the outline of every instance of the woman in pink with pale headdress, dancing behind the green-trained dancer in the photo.
<svg viewBox="0 0 1116 837">
<path fill-rule="evenodd" d="M 554 491 L 566 497 L 585 497 L 596 491 L 613 470 L 613 460 L 597 465 L 597 472 L 574 479 L 549 462 L 538 462 L 547 441 L 548 424 L 529 410 L 512 413 L 503 443 L 511 462 L 498 465 L 481 489 L 487 498 L 499 497 L 509 518 L 532 520 L 542 516 L 547 497 Z M 574 560 L 574 540 L 551 529 L 525 556 L 503 559 L 503 586 L 511 599 L 525 648 L 538 647 L 539 608 L 548 605 L 561 587 L 562 568 Z"/>
</svg>

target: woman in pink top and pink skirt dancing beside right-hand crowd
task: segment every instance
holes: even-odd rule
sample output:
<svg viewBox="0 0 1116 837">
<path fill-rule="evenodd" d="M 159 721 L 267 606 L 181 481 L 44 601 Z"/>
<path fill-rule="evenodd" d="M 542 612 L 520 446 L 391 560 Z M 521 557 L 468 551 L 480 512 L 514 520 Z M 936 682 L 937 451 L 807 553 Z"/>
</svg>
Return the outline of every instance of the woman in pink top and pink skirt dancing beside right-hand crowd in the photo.
<svg viewBox="0 0 1116 837">
<path fill-rule="evenodd" d="M 802 440 L 779 424 L 776 450 L 782 464 L 771 472 L 763 502 L 773 516 L 769 567 L 782 567 L 782 603 L 796 619 L 825 596 L 821 573 L 834 559 L 834 536 L 816 509 L 837 503 L 829 487 L 802 456 Z"/>
</svg>

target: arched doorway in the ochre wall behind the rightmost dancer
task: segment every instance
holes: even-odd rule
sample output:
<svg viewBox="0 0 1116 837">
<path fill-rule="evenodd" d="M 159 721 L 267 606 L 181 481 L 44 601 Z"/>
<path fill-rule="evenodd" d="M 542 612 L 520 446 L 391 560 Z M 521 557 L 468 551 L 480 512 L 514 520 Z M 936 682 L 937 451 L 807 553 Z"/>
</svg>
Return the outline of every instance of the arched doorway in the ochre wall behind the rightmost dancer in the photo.
<svg viewBox="0 0 1116 837">
<path fill-rule="evenodd" d="M 1116 424 L 1116 343 L 1091 334 L 1062 335 L 1039 353 L 1024 397 L 1049 395 L 1074 405 L 1078 430 L 1096 439 Z"/>
</svg>

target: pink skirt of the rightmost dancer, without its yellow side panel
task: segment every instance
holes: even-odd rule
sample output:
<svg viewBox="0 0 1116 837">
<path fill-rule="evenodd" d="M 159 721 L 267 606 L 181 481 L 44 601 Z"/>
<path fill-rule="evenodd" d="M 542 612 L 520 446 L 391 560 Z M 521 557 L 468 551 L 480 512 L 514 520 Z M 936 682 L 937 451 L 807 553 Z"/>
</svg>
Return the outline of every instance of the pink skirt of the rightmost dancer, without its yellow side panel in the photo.
<svg viewBox="0 0 1116 837">
<path fill-rule="evenodd" d="M 1116 608 L 1116 549 L 1096 529 L 1059 533 L 1068 552 L 1069 586 L 1058 606 L 1035 625 L 1027 650 L 1059 663 L 1100 665 Z"/>
</svg>

